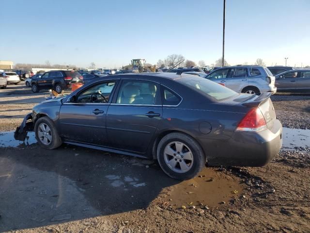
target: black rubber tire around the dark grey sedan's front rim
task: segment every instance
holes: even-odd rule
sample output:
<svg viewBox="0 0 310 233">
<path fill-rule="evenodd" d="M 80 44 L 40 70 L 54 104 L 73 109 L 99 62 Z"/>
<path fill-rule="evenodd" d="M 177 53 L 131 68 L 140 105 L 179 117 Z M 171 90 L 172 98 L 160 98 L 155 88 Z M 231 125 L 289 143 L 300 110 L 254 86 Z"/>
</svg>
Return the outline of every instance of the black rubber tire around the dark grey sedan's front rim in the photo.
<svg viewBox="0 0 310 233">
<path fill-rule="evenodd" d="M 50 129 L 51 141 L 48 145 L 45 145 L 38 136 L 38 130 L 39 130 L 38 128 L 41 125 L 41 123 L 46 124 Z M 51 119 L 49 119 L 47 116 L 43 116 L 35 122 L 34 132 L 35 132 L 35 138 L 37 139 L 38 144 L 47 150 L 53 150 L 62 145 L 62 139 L 56 130 L 54 122 Z"/>
</svg>

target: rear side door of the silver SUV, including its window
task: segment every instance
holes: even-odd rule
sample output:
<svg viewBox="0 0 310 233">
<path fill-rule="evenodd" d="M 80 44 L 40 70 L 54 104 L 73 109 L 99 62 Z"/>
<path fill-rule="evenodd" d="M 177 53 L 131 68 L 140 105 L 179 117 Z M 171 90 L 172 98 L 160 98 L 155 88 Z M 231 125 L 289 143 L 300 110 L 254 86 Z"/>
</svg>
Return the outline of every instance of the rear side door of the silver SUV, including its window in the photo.
<svg viewBox="0 0 310 233">
<path fill-rule="evenodd" d="M 241 92 L 243 88 L 248 86 L 249 78 L 247 76 L 246 67 L 232 67 L 226 79 L 225 86 L 236 91 Z"/>
</svg>

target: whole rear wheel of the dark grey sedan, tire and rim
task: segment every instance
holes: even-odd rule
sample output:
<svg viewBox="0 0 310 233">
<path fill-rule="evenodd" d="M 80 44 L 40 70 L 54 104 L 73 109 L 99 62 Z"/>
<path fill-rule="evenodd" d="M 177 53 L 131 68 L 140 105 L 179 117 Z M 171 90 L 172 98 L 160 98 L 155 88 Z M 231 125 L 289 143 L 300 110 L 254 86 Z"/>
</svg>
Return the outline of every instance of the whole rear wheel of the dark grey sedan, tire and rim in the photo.
<svg viewBox="0 0 310 233">
<path fill-rule="evenodd" d="M 157 160 L 163 171 L 177 180 L 194 178 L 206 163 L 200 145 L 184 133 L 164 136 L 157 146 Z"/>
</svg>

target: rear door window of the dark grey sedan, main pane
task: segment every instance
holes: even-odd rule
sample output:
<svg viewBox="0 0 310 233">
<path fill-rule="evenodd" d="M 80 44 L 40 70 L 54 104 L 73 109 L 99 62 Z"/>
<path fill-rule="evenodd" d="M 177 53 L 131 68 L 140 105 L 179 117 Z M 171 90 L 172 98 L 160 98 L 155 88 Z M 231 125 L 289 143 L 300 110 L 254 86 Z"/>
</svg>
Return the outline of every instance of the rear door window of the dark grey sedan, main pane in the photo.
<svg viewBox="0 0 310 233">
<path fill-rule="evenodd" d="M 157 84 L 148 81 L 123 81 L 116 103 L 154 105 Z"/>
</svg>

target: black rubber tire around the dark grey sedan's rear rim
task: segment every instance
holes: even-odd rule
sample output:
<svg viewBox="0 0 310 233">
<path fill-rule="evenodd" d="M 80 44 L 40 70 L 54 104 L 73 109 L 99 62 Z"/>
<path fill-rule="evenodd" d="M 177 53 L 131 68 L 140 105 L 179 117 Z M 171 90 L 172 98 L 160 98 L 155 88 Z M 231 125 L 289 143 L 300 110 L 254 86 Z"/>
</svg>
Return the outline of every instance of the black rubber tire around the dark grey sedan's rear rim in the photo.
<svg viewBox="0 0 310 233">
<path fill-rule="evenodd" d="M 188 171 L 184 173 L 175 172 L 165 162 L 164 151 L 166 146 L 171 142 L 181 142 L 191 150 L 193 162 L 191 168 Z M 206 163 L 206 157 L 201 146 L 196 142 L 195 139 L 186 135 L 185 133 L 169 133 L 164 136 L 157 146 L 157 160 L 162 170 L 168 176 L 177 180 L 188 180 L 194 178 L 202 170 Z"/>
</svg>

